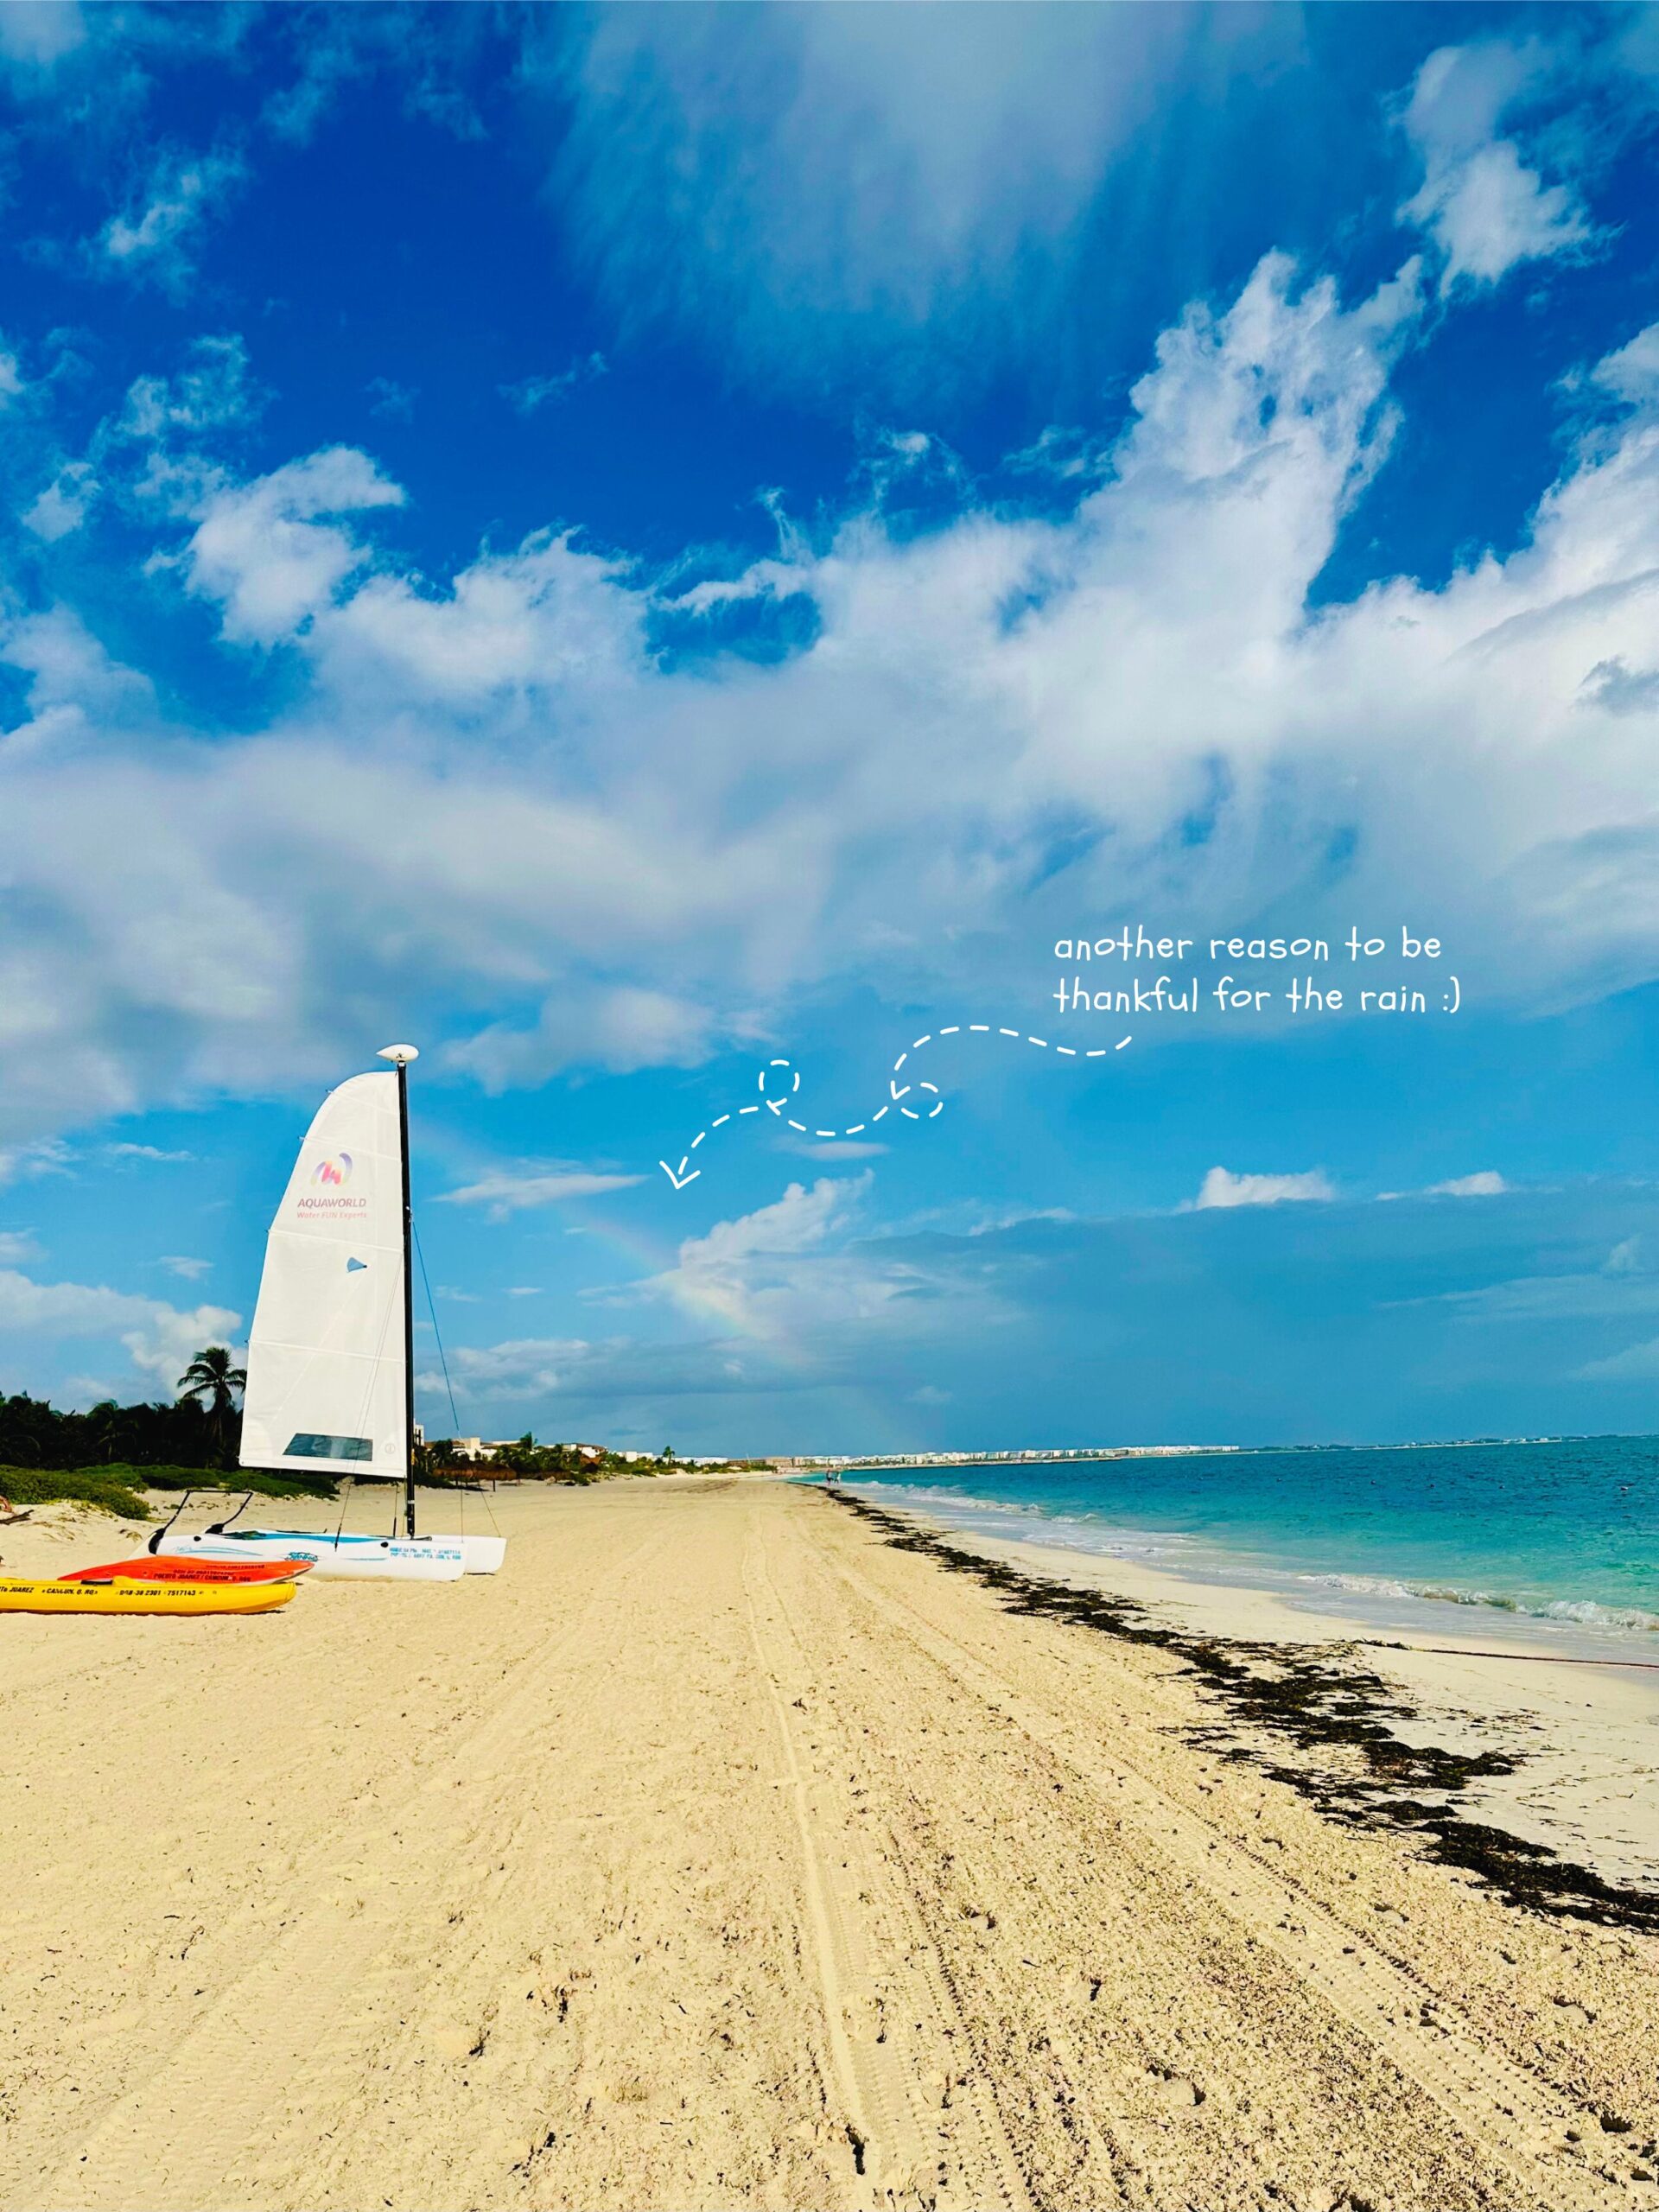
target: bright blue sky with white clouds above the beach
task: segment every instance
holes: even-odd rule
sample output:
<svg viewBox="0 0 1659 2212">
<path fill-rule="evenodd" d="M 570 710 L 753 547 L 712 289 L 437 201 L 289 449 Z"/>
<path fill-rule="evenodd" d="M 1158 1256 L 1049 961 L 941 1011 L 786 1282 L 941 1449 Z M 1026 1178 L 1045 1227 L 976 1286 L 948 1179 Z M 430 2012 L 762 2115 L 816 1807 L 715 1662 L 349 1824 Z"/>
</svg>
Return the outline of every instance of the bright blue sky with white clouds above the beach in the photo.
<svg viewBox="0 0 1659 2212">
<path fill-rule="evenodd" d="M 1659 1429 L 1657 173 L 1644 7 L 0 4 L 0 1389 L 407 1037 L 431 1433 Z"/>
</svg>

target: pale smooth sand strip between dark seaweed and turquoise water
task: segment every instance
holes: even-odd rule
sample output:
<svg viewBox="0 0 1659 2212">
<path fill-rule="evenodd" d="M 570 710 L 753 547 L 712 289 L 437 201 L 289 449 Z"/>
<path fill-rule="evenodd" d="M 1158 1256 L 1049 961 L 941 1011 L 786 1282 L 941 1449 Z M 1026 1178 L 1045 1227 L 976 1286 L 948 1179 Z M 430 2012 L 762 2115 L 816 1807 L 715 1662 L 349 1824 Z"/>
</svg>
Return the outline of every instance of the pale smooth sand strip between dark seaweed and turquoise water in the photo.
<svg viewBox="0 0 1659 2212">
<path fill-rule="evenodd" d="M 978 1535 L 914 1504 L 889 1506 L 878 1493 L 845 1495 L 858 1511 L 920 1531 L 945 1553 L 1119 1601 L 1128 1610 L 1102 1619 L 1108 1632 L 1168 1628 L 1179 1650 L 1214 1644 L 1329 1655 L 1336 1674 L 1347 1677 L 1349 1697 L 1356 1672 L 1376 1677 L 1385 1694 L 1371 1692 L 1365 1703 L 1378 1721 L 1409 1747 L 1440 1754 L 1442 1785 L 1440 1792 L 1431 1785 L 1429 1798 L 1451 1814 L 1449 1827 L 1498 1829 L 1524 1851 L 1551 1854 L 1564 1874 L 1579 1869 L 1610 1889 L 1650 1896 L 1659 1924 L 1659 1668 L 1648 1672 L 1648 1661 L 1540 1650 L 1520 1637 L 1504 1650 L 1495 1648 L 1502 1637 L 1460 1639 L 1455 1630 L 1436 1646 L 1420 1646 L 1409 1632 L 1363 1635 L 1363 1624 L 1290 1604 L 1274 1590 L 1188 1582 L 1104 1553 Z M 1329 1703 L 1316 1697 L 1316 1683 L 1307 1690 L 1312 1703 Z M 1460 1772 L 1464 1765 L 1473 1772 Z M 1312 1787 L 1318 1794 L 1316 1774 Z M 1409 1803 L 1416 1825 L 1422 1796 Z M 1504 1867 L 1511 1854 L 1502 1847 L 1482 1856 L 1498 1863 L 1500 1878 L 1526 1871 Z M 1648 1922 L 1648 1909 L 1637 1916 Z"/>
</svg>

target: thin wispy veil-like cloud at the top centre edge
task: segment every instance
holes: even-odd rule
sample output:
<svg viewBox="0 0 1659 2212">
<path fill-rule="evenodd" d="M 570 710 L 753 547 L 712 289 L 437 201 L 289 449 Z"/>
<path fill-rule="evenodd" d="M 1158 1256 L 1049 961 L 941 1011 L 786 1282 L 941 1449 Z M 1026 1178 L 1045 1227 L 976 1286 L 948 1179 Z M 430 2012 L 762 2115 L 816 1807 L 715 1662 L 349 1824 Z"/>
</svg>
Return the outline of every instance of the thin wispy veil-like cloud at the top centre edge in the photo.
<svg viewBox="0 0 1659 2212">
<path fill-rule="evenodd" d="M 854 372 L 865 392 L 902 358 L 927 389 L 1042 345 L 1137 135 L 1170 159 L 1186 86 L 1296 40 L 1276 9 L 1210 11 L 1201 58 L 1183 7 L 960 9 L 949 38 L 907 7 L 597 9 L 533 27 L 524 86 L 557 115 L 568 237 L 628 325 L 668 319 L 770 389 Z"/>
</svg>

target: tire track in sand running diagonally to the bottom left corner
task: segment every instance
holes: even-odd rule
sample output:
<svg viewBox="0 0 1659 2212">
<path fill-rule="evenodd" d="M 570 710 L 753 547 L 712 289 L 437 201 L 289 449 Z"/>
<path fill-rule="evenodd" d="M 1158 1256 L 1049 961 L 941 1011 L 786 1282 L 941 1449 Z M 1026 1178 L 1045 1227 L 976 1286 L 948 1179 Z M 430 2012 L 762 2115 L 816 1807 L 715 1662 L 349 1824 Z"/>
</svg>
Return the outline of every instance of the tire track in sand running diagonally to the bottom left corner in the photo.
<svg viewBox="0 0 1659 2212">
<path fill-rule="evenodd" d="M 232 2201 L 228 2190 L 248 2152 L 259 2146 L 268 2157 L 272 2106 L 288 2119 L 303 2084 L 338 2066 L 343 2015 L 385 1980 L 376 1958 L 409 1927 L 405 1893 L 442 1896 L 453 1909 L 467 1882 L 489 1878 L 493 1854 L 478 1854 L 473 1840 L 487 1832 L 500 1843 L 529 1803 L 524 1761 L 509 1754 L 522 1750 L 566 1655 L 591 1657 L 595 1632 L 626 1635 L 628 1608 L 615 1586 L 670 1535 L 653 1531 L 591 1586 L 582 1610 L 520 1661 L 509 1694 L 453 1756 L 420 1772 L 396 1805 L 367 1798 L 352 1825 L 334 1834 L 330 1865 L 290 1876 L 301 1893 L 296 1918 L 221 1991 L 175 2053 L 95 2121 L 80 2159 L 29 2199 L 33 2212 L 208 2212 Z M 591 1679 L 597 1692 L 604 1670 L 595 1668 Z M 469 1801 L 465 1832 L 449 1825 L 414 1863 L 394 1858 L 385 1871 L 372 1865 L 376 1834 L 451 1805 L 458 1792 Z M 301 1885 L 310 1882 L 316 1889 L 307 1893 Z"/>
</svg>

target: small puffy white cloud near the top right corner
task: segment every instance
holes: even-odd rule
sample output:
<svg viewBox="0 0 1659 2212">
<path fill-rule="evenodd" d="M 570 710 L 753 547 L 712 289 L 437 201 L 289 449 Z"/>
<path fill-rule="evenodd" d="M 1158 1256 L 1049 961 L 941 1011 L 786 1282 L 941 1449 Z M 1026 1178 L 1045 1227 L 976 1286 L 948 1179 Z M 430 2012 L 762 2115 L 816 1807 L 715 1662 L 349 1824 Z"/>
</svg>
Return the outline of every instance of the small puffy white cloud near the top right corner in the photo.
<svg viewBox="0 0 1659 2212">
<path fill-rule="evenodd" d="M 1586 246 L 1590 221 L 1566 184 L 1544 184 L 1498 126 L 1557 64 L 1537 42 L 1440 46 L 1418 71 L 1402 126 L 1422 186 L 1400 208 L 1440 248 L 1442 290 L 1498 283 L 1522 261 Z"/>
</svg>

